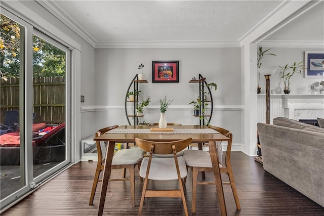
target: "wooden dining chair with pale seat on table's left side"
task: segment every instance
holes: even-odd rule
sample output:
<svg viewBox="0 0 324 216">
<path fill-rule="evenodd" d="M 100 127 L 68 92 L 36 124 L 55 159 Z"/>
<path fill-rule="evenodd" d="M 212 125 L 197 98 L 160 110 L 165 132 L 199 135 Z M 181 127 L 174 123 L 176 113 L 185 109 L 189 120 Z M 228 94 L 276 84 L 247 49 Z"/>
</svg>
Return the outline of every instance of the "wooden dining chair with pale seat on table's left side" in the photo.
<svg viewBox="0 0 324 216">
<path fill-rule="evenodd" d="M 99 137 L 100 135 L 110 131 L 113 128 L 118 127 L 117 125 L 109 126 L 100 129 L 96 133 L 96 137 Z M 104 169 L 105 164 L 105 149 L 107 142 L 100 143 L 100 141 L 96 141 L 97 144 L 97 150 L 98 150 L 98 162 L 97 162 L 97 168 L 95 172 L 95 178 L 93 181 L 92 191 L 90 195 L 90 201 L 89 205 L 93 204 L 93 199 L 95 197 L 96 188 L 98 185 L 98 182 L 101 182 L 102 179 L 99 179 L 101 171 Z M 102 145 L 103 144 L 103 145 Z M 135 207 L 135 166 L 138 165 L 138 169 L 140 169 L 141 161 L 143 159 L 143 150 L 140 148 L 131 148 L 131 149 L 120 149 L 118 150 L 112 157 L 111 162 L 111 169 L 128 169 L 130 172 L 130 178 L 125 178 L 125 172 L 123 178 L 120 179 L 109 179 L 109 181 L 130 181 L 131 182 L 131 196 L 132 196 L 132 206 Z M 141 181 L 143 181 L 142 178 L 140 178 Z"/>
</svg>

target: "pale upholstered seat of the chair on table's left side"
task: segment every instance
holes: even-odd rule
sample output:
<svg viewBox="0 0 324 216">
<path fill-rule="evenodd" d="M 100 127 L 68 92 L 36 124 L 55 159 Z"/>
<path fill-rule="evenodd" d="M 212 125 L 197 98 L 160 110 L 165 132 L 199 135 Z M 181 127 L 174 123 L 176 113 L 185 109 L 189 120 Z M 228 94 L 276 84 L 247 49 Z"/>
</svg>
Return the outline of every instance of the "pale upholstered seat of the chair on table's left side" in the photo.
<svg viewBox="0 0 324 216">
<path fill-rule="evenodd" d="M 120 149 L 112 157 L 111 165 L 136 164 L 143 158 L 140 148 Z"/>
</svg>

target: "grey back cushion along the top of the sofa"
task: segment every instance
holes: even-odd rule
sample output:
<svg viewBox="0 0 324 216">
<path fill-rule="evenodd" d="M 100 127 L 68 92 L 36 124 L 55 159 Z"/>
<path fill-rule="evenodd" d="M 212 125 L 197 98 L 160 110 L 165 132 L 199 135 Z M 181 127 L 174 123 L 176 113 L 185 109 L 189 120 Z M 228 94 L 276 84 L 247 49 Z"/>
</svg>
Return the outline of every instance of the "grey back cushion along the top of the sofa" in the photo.
<svg viewBox="0 0 324 216">
<path fill-rule="evenodd" d="M 300 121 L 296 121 L 294 119 L 286 118 L 286 117 L 277 117 L 273 119 L 274 125 L 285 126 L 290 128 L 302 129 L 304 131 L 317 132 L 320 134 L 324 134 L 324 128 L 320 128 L 315 125 L 306 124 Z"/>
</svg>

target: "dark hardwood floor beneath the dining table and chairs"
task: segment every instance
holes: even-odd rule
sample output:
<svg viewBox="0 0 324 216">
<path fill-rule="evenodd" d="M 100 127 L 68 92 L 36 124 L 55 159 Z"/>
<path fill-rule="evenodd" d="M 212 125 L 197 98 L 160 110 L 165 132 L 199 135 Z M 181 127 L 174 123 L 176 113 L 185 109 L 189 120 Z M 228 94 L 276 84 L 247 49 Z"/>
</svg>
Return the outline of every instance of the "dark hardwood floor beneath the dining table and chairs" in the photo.
<svg viewBox="0 0 324 216">
<path fill-rule="evenodd" d="M 241 152 L 232 152 L 232 167 L 241 210 L 237 211 L 230 186 L 224 186 L 228 215 L 324 215 L 324 208 L 263 170 Z M 96 162 L 79 162 L 45 184 L 2 215 L 96 215 L 100 183 L 89 206 Z M 136 170 L 136 207 L 131 205 L 129 182 L 110 182 L 104 215 L 137 215 L 143 182 Z M 121 175 L 113 170 L 113 176 Z M 191 171 L 186 183 L 189 215 L 220 215 L 215 185 L 198 185 L 197 210 L 191 213 Z M 199 176 L 200 177 L 200 176 Z M 211 179 L 211 174 L 206 175 Z M 222 176 L 227 181 L 227 177 Z M 176 181 L 150 182 L 155 188 L 177 187 Z M 184 215 L 179 198 L 147 198 L 143 215 Z"/>
</svg>

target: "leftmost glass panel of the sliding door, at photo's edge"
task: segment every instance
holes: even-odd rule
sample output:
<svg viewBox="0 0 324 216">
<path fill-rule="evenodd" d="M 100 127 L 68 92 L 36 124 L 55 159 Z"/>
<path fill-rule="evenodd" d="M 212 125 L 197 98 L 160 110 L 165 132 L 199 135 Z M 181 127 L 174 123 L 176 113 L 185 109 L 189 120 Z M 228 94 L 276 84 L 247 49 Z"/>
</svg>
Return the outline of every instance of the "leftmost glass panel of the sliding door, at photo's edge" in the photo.
<svg viewBox="0 0 324 216">
<path fill-rule="evenodd" d="M 24 27 L 1 14 L 0 79 L 0 173 L 1 200 L 26 186 L 23 133 L 19 132 L 21 71 L 23 71 Z M 21 68 L 22 67 L 22 68 Z M 22 162 L 20 162 L 22 160 Z"/>
</svg>

